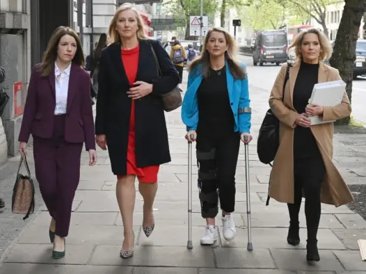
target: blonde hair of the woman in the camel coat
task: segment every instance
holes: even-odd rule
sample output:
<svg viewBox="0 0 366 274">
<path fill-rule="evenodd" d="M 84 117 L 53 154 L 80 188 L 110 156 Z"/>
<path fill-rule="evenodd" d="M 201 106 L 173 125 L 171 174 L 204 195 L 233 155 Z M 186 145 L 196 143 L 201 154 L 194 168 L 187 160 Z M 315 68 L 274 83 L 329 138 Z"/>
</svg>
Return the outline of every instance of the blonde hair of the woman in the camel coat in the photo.
<svg viewBox="0 0 366 274">
<path fill-rule="evenodd" d="M 307 33 L 314 33 L 318 36 L 321 48 L 321 51 L 319 52 L 319 61 L 324 61 L 325 59 L 331 58 L 333 52 L 331 42 L 329 42 L 326 35 L 321 31 L 319 31 L 319 29 L 305 29 L 301 31 L 301 33 L 299 33 L 299 35 L 296 36 L 296 39 L 294 40 L 294 42 L 292 42 L 292 44 L 289 46 L 288 49 L 294 47 L 296 57 L 299 60 L 301 60 L 303 58 L 303 54 L 301 52 L 301 46 L 303 45 L 303 37 Z"/>
</svg>

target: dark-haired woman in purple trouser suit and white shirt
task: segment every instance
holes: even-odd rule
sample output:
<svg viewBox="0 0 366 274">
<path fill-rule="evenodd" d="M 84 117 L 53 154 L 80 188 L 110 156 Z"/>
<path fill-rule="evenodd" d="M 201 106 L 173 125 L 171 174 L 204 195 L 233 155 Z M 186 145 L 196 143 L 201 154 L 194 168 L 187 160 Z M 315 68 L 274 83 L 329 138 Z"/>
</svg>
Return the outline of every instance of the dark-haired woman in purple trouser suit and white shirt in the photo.
<svg viewBox="0 0 366 274">
<path fill-rule="evenodd" d="M 33 68 L 19 133 L 19 152 L 24 155 L 29 136 L 33 136 L 35 177 L 51 216 L 49 239 L 54 243 L 54 259 L 65 256 L 83 143 L 89 165 L 97 161 L 90 77 L 83 65 L 79 35 L 68 27 L 58 28 L 42 63 Z"/>
</svg>

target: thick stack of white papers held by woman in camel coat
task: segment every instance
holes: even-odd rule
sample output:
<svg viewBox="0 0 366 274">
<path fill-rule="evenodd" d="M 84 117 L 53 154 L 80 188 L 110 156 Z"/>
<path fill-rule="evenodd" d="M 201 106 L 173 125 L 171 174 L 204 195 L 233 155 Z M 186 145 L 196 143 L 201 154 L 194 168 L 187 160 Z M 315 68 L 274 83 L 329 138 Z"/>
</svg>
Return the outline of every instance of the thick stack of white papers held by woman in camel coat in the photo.
<svg viewBox="0 0 366 274">
<path fill-rule="evenodd" d="M 317 83 L 312 89 L 310 104 L 320 104 L 321 106 L 337 106 L 337 104 L 342 103 L 344 92 L 346 92 L 346 83 L 344 83 L 342 80 Z M 323 121 L 318 115 L 309 116 L 308 118 L 311 121 L 311 125 L 335 122 L 335 120 Z"/>
</svg>

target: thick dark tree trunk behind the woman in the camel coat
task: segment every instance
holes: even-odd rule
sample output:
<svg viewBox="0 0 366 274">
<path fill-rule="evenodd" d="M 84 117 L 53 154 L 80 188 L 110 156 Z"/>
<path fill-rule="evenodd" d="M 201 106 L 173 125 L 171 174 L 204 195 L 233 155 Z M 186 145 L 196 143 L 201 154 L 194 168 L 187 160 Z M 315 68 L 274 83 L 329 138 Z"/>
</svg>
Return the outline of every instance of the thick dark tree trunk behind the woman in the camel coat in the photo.
<svg viewBox="0 0 366 274">
<path fill-rule="evenodd" d="M 340 71 L 342 80 L 347 84 L 349 100 L 352 99 L 353 64 L 356 61 L 356 42 L 360 31 L 361 19 L 365 13 L 365 0 L 344 0 L 340 26 L 337 31 L 330 59 L 332 67 Z M 337 121 L 337 124 L 349 124 L 350 118 Z"/>
</svg>

